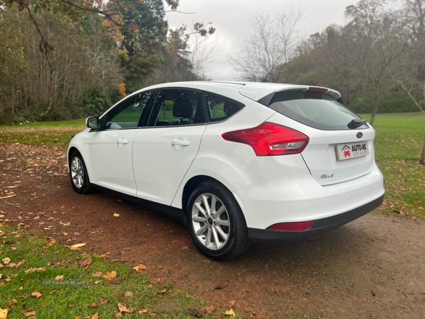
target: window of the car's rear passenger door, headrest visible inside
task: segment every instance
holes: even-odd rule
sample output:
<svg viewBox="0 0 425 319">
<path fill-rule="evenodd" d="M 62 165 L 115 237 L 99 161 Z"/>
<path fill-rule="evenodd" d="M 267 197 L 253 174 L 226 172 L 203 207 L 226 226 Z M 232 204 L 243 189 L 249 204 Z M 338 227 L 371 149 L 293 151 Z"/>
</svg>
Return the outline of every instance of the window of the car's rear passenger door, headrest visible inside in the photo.
<svg viewBox="0 0 425 319">
<path fill-rule="evenodd" d="M 159 91 L 148 126 L 192 125 L 205 123 L 199 92 L 186 89 Z"/>
</svg>

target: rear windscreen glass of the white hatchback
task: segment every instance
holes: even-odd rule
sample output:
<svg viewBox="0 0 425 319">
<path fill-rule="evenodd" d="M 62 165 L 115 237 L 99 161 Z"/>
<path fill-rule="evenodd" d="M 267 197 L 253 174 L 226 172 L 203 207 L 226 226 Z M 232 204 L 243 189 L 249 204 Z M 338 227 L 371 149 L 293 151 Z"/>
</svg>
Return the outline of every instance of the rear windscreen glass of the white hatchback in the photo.
<svg viewBox="0 0 425 319">
<path fill-rule="evenodd" d="M 319 130 L 349 130 L 348 123 L 354 118 L 361 119 L 333 97 L 310 91 L 278 92 L 268 107 Z"/>
</svg>

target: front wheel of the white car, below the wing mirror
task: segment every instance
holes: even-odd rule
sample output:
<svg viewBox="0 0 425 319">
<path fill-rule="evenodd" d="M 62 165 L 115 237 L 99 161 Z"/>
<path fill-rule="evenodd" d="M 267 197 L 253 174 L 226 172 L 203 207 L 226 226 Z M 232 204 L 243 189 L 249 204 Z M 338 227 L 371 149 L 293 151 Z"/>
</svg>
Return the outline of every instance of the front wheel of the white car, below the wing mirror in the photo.
<svg viewBox="0 0 425 319">
<path fill-rule="evenodd" d="M 84 164 L 83 157 L 77 150 L 74 150 L 69 157 L 69 177 L 74 191 L 78 194 L 89 194 L 93 190 L 86 164 Z"/>
</svg>

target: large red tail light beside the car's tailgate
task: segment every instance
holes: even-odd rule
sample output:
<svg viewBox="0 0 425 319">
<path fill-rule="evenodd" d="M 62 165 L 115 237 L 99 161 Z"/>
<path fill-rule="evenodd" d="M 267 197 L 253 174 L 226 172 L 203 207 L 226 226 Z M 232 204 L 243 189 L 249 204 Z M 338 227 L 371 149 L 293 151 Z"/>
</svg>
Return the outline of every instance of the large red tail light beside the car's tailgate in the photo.
<svg viewBox="0 0 425 319">
<path fill-rule="evenodd" d="M 222 138 L 248 144 L 258 156 L 298 154 L 308 143 L 308 137 L 297 130 L 267 122 L 256 128 L 224 133 Z"/>
</svg>

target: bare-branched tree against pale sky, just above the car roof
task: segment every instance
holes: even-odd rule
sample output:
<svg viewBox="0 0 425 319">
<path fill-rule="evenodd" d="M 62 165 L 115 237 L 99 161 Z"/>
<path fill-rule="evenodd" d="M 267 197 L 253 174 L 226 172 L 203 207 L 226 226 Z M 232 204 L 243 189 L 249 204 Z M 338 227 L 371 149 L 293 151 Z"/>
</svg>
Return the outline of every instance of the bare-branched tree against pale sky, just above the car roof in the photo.
<svg viewBox="0 0 425 319">
<path fill-rule="evenodd" d="M 295 26 L 301 18 L 302 13 L 293 9 L 274 16 L 254 14 L 249 40 L 228 57 L 237 78 L 277 82 L 280 72 L 295 55 L 299 40 Z"/>
</svg>

